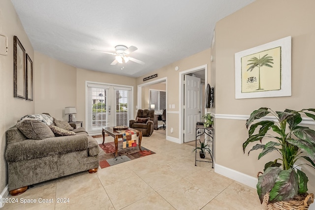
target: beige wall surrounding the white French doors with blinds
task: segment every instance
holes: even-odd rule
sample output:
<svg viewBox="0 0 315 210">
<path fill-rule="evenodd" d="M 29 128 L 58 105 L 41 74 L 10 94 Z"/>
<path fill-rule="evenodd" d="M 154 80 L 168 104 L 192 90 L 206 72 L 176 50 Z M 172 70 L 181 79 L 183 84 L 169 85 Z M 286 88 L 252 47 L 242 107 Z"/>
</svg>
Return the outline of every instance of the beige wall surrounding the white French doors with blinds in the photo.
<svg viewBox="0 0 315 210">
<path fill-rule="evenodd" d="M 133 87 L 133 108 L 135 110 L 136 103 L 136 79 L 131 77 L 125 77 L 114 74 L 107 74 L 97 71 L 90 71 L 85 69 L 77 69 L 76 74 L 77 80 L 77 120 L 83 121 L 83 126 L 85 126 L 85 82 L 98 82 L 98 83 L 107 83 L 107 84 L 117 84 L 117 85 L 126 85 Z"/>
</svg>

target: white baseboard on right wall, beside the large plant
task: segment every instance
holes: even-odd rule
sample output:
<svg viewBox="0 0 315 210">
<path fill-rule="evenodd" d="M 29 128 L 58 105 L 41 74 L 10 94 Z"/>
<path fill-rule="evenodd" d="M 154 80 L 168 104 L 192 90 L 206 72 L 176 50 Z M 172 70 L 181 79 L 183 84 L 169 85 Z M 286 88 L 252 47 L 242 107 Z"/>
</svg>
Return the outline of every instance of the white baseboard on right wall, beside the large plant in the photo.
<svg viewBox="0 0 315 210">
<path fill-rule="evenodd" d="M 235 170 L 227 168 L 225 166 L 221 166 L 219 164 L 216 164 L 215 172 L 223 175 L 224 177 L 227 177 L 227 178 L 230 178 L 232 180 L 241 182 L 247 186 L 250 186 L 250 187 L 256 189 L 256 184 L 258 181 L 257 178 L 251 177 L 247 174 L 243 174 L 239 171 L 235 171 Z"/>
</svg>

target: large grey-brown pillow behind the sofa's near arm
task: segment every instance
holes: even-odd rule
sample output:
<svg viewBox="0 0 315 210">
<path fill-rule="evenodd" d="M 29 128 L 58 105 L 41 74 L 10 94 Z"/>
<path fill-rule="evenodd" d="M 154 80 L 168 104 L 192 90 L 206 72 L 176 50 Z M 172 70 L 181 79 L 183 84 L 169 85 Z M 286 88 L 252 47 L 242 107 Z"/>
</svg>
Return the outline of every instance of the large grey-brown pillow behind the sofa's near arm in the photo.
<svg viewBox="0 0 315 210">
<path fill-rule="evenodd" d="M 39 120 L 24 119 L 16 124 L 16 127 L 29 139 L 46 139 L 55 137 L 48 125 Z"/>
</svg>

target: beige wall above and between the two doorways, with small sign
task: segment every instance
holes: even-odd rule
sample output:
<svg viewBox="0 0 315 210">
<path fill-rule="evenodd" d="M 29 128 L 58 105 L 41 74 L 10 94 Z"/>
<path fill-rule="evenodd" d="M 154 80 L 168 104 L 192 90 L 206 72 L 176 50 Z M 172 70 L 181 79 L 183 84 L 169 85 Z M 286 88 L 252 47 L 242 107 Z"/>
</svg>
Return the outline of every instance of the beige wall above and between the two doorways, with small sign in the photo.
<svg viewBox="0 0 315 210">
<path fill-rule="evenodd" d="M 210 49 L 207 49 L 205 51 L 202 51 L 200 53 L 197 53 L 195 55 L 192 55 L 188 58 L 185 58 L 183 60 L 176 61 L 174 63 L 171 63 L 170 65 L 167 65 L 165 67 L 162 67 L 160 69 L 157 69 L 156 71 L 150 72 L 148 74 L 143 75 L 142 77 L 137 78 L 137 85 L 144 84 L 146 82 L 152 82 L 154 80 L 158 80 L 160 78 L 167 78 L 167 85 L 166 85 L 166 97 L 167 97 L 167 113 L 166 113 L 166 119 L 167 119 L 167 135 L 174 139 L 179 139 L 180 136 L 182 136 L 179 130 L 179 73 L 182 71 L 186 71 L 201 65 L 208 65 L 208 71 L 210 69 Z M 178 71 L 175 71 L 175 66 L 179 67 Z M 143 82 L 143 78 L 148 77 L 153 74 L 158 74 L 158 77 L 154 80 L 149 80 Z M 210 81 L 210 74 L 208 74 L 208 81 Z M 169 109 L 169 104 L 175 104 L 174 109 Z M 173 128 L 174 132 L 171 133 L 170 129 Z"/>
</svg>

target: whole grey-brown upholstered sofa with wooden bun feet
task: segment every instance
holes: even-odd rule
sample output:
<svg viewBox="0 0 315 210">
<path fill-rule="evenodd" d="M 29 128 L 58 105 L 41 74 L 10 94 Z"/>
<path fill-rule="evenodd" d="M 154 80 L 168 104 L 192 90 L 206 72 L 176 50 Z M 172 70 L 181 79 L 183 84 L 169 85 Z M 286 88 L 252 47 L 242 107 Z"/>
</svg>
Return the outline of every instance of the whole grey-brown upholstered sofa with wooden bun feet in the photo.
<svg viewBox="0 0 315 210">
<path fill-rule="evenodd" d="M 56 133 L 51 134 L 47 130 L 47 127 L 51 126 L 44 122 L 31 119 L 26 123 L 29 126 L 23 127 L 24 125 L 18 122 L 6 132 L 5 159 L 8 164 L 8 190 L 11 195 L 21 194 L 29 185 L 42 181 L 82 171 L 97 172 L 98 144 L 83 127 L 73 129 L 72 133 L 67 131 L 71 135 L 58 136 Z M 41 131 L 39 127 L 46 128 L 46 131 Z M 35 131 L 35 139 L 27 137 L 30 130 Z M 45 138 L 45 135 L 50 137 Z"/>
</svg>

